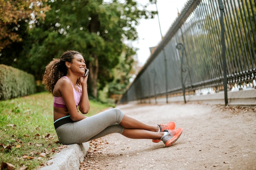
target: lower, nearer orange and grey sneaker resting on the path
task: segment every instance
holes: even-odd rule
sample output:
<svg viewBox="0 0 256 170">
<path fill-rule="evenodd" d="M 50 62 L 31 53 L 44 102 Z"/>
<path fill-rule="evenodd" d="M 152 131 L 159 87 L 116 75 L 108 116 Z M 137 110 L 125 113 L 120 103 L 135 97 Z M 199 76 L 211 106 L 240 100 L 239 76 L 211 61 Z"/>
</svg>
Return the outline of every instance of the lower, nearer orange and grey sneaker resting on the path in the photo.
<svg viewBox="0 0 256 170">
<path fill-rule="evenodd" d="M 178 128 L 176 130 L 164 130 L 164 132 L 168 132 L 167 135 L 161 137 L 161 140 L 164 142 L 165 146 L 171 146 L 174 142 L 179 139 L 180 135 L 182 134 L 183 129 Z"/>
</svg>

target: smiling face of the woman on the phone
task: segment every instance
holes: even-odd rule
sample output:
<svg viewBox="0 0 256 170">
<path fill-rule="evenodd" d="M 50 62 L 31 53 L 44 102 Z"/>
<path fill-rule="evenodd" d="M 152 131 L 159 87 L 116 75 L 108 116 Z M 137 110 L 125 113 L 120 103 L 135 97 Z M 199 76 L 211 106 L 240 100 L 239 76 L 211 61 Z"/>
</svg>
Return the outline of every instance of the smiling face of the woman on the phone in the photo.
<svg viewBox="0 0 256 170">
<path fill-rule="evenodd" d="M 70 63 L 70 68 L 72 72 L 77 72 L 79 75 L 85 74 L 85 60 L 81 54 L 75 54 L 72 62 Z"/>
</svg>

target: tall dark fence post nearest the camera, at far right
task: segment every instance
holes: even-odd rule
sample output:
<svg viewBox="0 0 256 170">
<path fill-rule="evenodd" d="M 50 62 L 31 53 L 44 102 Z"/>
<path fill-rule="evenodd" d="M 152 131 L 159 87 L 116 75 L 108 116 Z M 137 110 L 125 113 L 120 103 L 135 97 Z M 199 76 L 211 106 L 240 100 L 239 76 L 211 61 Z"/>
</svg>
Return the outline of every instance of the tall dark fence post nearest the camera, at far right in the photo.
<svg viewBox="0 0 256 170">
<path fill-rule="evenodd" d="M 222 0 L 219 0 L 219 7 L 220 7 L 220 26 L 221 26 L 221 53 L 222 53 L 222 62 L 223 62 L 223 86 L 224 86 L 224 96 L 225 96 L 225 106 L 228 104 L 227 100 L 227 62 L 226 62 L 226 55 L 225 55 L 225 35 L 224 35 L 224 4 Z"/>
</svg>

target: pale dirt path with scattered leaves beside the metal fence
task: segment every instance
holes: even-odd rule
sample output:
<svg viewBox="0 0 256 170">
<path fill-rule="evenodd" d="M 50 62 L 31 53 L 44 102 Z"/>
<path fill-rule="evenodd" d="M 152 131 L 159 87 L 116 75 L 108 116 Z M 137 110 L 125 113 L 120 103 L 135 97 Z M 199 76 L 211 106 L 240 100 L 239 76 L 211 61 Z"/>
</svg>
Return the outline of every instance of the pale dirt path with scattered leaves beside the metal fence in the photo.
<svg viewBox="0 0 256 170">
<path fill-rule="evenodd" d="M 254 170 L 256 107 L 205 104 L 119 105 L 148 124 L 174 121 L 184 129 L 166 148 L 149 139 L 111 134 L 92 141 L 81 170 Z"/>
</svg>

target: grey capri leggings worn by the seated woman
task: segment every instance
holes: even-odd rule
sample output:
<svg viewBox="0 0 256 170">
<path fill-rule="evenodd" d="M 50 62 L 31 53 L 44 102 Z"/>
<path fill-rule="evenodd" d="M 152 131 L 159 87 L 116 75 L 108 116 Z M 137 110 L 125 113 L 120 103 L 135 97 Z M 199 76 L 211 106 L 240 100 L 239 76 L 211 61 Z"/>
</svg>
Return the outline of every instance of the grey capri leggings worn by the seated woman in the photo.
<svg viewBox="0 0 256 170">
<path fill-rule="evenodd" d="M 124 113 L 118 109 L 109 109 L 78 122 L 63 124 L 56 129 L 62 144 L 81 144 L 111 133 L 120 133 L 124 127 L 119 125 Z"/>
</svg>

